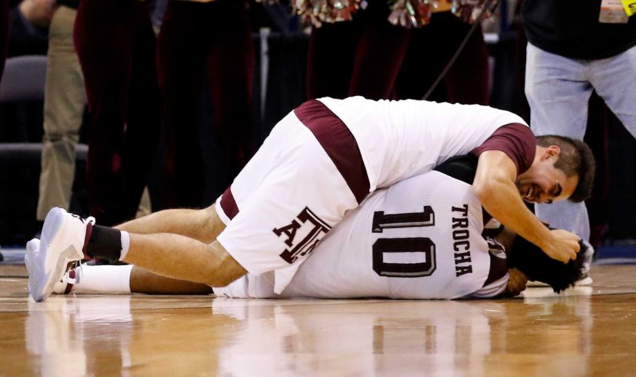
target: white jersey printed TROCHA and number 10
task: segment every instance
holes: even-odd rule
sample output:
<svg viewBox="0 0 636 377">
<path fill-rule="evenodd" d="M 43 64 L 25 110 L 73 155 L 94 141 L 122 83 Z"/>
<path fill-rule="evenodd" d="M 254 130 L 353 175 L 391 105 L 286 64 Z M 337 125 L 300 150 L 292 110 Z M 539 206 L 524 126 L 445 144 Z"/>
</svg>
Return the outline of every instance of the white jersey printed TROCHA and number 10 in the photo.
<svg viewBox="0 0 636 377">
<path fill-rule="evenodd" d="M 376 191 L 326 235 L 281 295 L 270 273 L 215 293 L 230 297 L 458 298 L 490 269 L 472 187 L 437 171 Z M 505 281 L 503 282 L 505 287 Z"/>
</svg>

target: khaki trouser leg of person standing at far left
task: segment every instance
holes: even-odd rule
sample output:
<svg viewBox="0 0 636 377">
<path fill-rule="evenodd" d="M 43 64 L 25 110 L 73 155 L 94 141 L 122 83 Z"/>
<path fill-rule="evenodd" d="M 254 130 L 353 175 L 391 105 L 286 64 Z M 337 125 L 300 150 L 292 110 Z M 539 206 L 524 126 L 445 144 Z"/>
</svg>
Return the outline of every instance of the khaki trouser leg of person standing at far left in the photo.
<svg viewBox="0 0 636 377">
<path fill-rule="evenodd" d="M 37 220 L 54 206 L 68 209 L 75 175 L 75 145 L 86 104 L 84 79 L 73 47 L 76 10 L 60 6 L 49 29 L 44 97 L 44 141 Z"/>
</svg>

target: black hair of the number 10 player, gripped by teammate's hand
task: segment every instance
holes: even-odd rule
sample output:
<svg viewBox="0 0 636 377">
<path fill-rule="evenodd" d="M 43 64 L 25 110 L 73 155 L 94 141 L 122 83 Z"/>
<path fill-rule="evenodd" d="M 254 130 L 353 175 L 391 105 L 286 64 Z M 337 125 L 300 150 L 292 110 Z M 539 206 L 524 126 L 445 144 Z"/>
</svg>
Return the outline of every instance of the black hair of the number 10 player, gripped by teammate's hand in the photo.
<svg viewBox="0 0 636 377">
<path fill-rule="evenodd" d="M 579 246 L 581 250 L 577 254 L 577 259 L 564 264 L 550 258 L 535 244 L 517 235 L 507 254 L 508 267 L 511 269 L 515 267 L 525 273 L 530 280 L 549 284 L 555 292 L 559 293 L 572 287 L 577 280 L 581 279 L 581 267 L 583 267 L 587 247 L 580 240 Z"/>
</svg>

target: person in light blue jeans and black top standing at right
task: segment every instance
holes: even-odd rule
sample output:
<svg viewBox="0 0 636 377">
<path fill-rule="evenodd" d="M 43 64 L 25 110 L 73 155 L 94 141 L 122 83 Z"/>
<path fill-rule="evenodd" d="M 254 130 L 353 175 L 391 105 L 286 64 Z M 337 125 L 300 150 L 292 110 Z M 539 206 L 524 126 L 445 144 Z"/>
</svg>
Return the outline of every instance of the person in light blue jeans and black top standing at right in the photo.
<svg viewBox="0 0 636 377">
<path fill-rule="evenodd" d="M 595 90 L 636 137 L 636 18 L 619 7 L 601 9 L 601 0 L 576 7 L 526 0 L 521 18 L 528 39 L 525 95 L 532 131 L 583 139 Z M 539 204 L 535 211 L 551 226 L 589 240 L 583 202 Z"/>
</svg>

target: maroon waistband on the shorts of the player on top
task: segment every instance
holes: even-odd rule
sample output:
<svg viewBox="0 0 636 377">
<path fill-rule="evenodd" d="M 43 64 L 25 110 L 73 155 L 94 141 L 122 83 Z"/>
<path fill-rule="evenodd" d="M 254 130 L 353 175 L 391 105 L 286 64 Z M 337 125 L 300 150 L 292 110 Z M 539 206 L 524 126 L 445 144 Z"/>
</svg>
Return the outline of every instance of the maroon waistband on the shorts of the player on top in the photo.
<svg viewBox="0 0 636 377">
<path fill-rule="evenodd" d="M 300 121 L 315 135 L 331 161 L 347 182 L 358 204 L 369 191 L 368 175 L 357 142 L 349 128 L 321 101 L 312 99 L 294 110 Z"/>
</svg>

